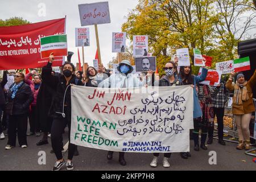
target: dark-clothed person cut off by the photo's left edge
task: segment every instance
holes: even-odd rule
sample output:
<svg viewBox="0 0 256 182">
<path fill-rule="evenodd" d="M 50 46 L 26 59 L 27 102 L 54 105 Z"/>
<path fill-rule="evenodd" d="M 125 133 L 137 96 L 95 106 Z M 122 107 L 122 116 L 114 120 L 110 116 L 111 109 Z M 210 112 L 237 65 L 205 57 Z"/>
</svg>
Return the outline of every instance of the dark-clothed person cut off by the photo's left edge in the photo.
<svg viewBox="0 0 256 182">
<path fill-rule="evenodd" d="M 0 139 L 5 139 L 5 134 L 3 134 L 2 129 L 2 111 L 5 109 L 5 92 L 3 91 L 3 88 L 7 82 L 7 73 L 6 71 L 3 72 L 3 78 L 0 82 Z"/>
</svg>

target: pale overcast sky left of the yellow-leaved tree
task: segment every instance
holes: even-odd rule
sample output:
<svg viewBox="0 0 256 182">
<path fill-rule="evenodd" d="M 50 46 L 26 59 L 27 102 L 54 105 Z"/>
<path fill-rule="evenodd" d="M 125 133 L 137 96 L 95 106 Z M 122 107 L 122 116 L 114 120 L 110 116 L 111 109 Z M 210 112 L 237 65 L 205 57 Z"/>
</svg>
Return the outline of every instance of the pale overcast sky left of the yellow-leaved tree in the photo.
<svg viewBox="0 0 256 182">
<path fill-rule="evenodd" d="M 105 0 L 102 0 L 105 1 Z M 75 28 L 81 27 L 79 16 L 79 4 L 94 3 L 102 1 L 93 0 L 1 0 L 0 18 L 7 19 L 13 16 L 20 16 L 32 23 L 45 20 L 64 18 L 67 15 L 66 33 L 68 35 L 68 50 L 75 53 L 72 57 L 72 63 L 78 63 L 77 48 L 75 47 Z M 39 16 L 39 3 L 46 5 L 46 16 Z M 112 57 L 112 32 L 121 31 L 122 23 L 130 10 L 134 9 L 138 0 L 109 0 L 109 10 L 111 23 L 98 25 L 100 37 L 101 59 L 105 67 L 108 66 Z M 90 47 L 85 47 L 85 63 L 93 65 L 97 44 L 94 26 L 85 26 L 90 28 Z M 80 48 L 80 56 L 82 49 Z"/>
</svg>

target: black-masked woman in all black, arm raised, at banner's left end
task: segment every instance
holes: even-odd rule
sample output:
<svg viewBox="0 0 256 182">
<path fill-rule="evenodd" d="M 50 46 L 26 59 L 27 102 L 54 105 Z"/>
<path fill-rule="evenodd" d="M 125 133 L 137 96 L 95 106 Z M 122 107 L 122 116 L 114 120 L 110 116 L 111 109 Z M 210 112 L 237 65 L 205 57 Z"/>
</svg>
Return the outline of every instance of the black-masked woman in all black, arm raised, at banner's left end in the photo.
<svg viewBox="0 0 256 182">
<path fill-rule="evenodd" d="M 42 69 L 42 77 L 45 84 L 56 90 L 53 96 L 52 104 L 49 109 L 49 114 L 53 117 L 51 128 L 52 149 L 55 152 L 57 161 L 52 171 L 59 171 L 64 166 L 65 160 L 61 153 L 62 149 L 62 134 L 66 125 L 68 125 L 68 136 L 70 141 L 71 134 L 71 84 L 81 85 L 79 80 L 76 84 L 75 66 L 72 63 L 66 62 L 63 65 L 63 75 L 60 77 L 52 76 L 52 62 L 54 60 L 53 53 L 49 56 L 49 62 Z M 63 107 L 64 106 L 64 107 Z M 75 152 L 75 144 L 69 142 L 68 145 L 68 161 L 66 164 L 67 170 L 73 170 L 73 155 Z"/>
</svg>

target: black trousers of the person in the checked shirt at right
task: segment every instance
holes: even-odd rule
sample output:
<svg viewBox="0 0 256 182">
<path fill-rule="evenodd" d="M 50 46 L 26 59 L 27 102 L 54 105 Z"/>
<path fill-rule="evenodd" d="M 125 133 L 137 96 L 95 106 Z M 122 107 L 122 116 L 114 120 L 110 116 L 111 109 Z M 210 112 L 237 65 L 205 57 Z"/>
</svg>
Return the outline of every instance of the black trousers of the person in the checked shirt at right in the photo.
<svg viewBox="0 0 256 182">
<path fill-rule="evenodd" d="M 223 118 L 224 118 L 224 111 L 225 108 L 213 108 L 214 109 L 214 117 L 217 115 L 217 122 L 218 122 L 218 140 L 223 140 Z M 214 128 L 211 127 L 208 131 L 209 138 L 213 138 L 213 131 Z"/>
</svg>

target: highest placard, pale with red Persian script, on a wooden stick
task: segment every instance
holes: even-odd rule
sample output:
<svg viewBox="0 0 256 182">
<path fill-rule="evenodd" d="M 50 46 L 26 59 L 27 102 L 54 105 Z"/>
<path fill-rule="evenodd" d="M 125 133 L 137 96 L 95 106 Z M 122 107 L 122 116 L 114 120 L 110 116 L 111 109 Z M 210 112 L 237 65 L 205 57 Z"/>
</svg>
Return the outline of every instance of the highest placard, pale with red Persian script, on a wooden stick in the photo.
<svg viewBox="0 0 256 182">
<path fill-rule="evenodd" d="M 109 2 L 79 5 L 81 26 L 110 23 Z"/>
</svg>

